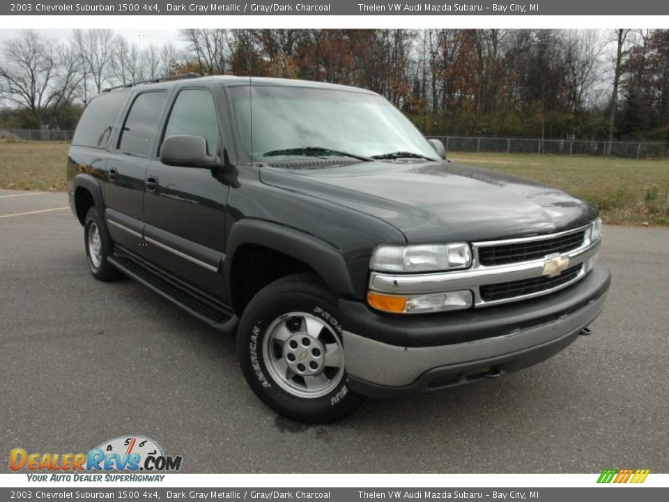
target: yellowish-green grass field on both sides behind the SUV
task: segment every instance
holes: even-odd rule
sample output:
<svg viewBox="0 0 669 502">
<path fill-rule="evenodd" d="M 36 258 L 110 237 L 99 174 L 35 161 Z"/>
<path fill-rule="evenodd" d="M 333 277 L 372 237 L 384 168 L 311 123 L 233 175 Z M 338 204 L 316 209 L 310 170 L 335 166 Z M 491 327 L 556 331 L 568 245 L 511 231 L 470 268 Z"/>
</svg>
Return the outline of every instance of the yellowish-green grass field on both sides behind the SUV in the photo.
<svg viewBox="0 0 669 502">
<path fill-rule="evenodd" d="M 0 188 L 66 190 L 68 144 L 0 143 Z M 463 164 L 516 174 L 592 202 L 613 225 L 669 227 L 669 160 L 452 153 Z"/>
</svg>

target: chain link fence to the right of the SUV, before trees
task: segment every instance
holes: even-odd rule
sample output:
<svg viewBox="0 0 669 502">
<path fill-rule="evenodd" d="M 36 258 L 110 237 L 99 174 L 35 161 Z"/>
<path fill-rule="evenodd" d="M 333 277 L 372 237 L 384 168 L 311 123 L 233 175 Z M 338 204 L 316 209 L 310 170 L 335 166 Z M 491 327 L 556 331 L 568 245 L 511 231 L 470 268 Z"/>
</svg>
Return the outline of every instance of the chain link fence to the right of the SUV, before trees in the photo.
<svg viewBox="0 0 669 502">
<path fill-rule="evenodd" d="M 571 139 L 525 139 L 470 136 L 429 136 L 440 139 L 448 152 L 535 153 L 537 155 L 591 155 L 636 159 L 669 158 L 669 143 L 606 142 Z"/>
</svg>

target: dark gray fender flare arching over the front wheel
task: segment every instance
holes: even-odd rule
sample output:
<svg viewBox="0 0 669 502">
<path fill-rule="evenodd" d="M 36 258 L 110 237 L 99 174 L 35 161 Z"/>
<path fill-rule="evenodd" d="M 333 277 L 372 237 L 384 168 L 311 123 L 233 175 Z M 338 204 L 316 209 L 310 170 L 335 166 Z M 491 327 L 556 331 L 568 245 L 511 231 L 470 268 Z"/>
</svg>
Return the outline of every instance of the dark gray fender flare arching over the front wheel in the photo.
<svg viewBox="0 0 669 502">
<path fill-rule="evenodd" d="M 232 262 L 236 250 L 245 244 L 261 245 L 298 259 L 316 271 L 337 295 L 353 296 L 354 288 L 341 251 L 320 238 L 291 227 L 264 220 L 239 220 L 228 236 L 224 263 L 225 289 L 232 298 Z"/>
</svg>

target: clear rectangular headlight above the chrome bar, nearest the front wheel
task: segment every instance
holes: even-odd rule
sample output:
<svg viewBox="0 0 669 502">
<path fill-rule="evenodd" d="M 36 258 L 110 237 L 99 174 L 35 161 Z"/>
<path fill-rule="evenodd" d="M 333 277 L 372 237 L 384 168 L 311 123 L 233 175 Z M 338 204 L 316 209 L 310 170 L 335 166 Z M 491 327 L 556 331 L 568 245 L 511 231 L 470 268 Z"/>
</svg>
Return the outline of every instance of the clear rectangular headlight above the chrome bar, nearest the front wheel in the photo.
<svg viewBox="0 0 669 502">
<path fill-rule="evenodd" d="M 380 245 L 369 267 L 384 272 L 429 272 L 467 268 L 472 264 L 468 243 L 440 245 Z"/>
</svg>

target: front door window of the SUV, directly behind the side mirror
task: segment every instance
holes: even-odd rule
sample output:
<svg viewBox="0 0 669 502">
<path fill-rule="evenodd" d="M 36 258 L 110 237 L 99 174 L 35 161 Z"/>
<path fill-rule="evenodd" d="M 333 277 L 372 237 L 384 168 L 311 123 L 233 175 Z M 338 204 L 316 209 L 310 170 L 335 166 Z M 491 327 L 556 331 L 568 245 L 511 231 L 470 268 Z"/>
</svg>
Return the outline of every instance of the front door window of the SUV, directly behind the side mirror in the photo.
<svg viewBox="0 0 669 502">
<path fill-rule="evenodd" d="M 218 146 L 218 120 L 214 98 L 205 89 L 184 89 L 169 114 L 165 136 L 200 136 L 207 140 L 209 155 Z"/>
</svg>

